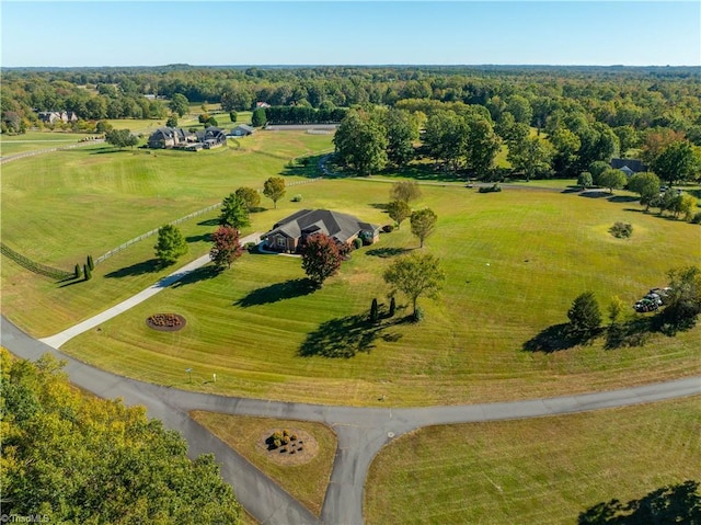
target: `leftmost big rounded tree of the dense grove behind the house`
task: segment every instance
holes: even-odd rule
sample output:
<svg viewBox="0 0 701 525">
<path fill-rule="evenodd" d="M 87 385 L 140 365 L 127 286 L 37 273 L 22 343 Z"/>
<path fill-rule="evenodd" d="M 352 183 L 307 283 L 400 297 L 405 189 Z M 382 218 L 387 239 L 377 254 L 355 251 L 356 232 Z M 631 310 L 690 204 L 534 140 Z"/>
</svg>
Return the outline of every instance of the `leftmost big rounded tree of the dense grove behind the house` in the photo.
<svg viewBox="0 0 701 525">
<path fill-rule="evenodd" d="M 349 111 L 333 138 L 338 161 L 361 175 L 387 164 L 387 130 L 377 115 Z"/>
</svg>

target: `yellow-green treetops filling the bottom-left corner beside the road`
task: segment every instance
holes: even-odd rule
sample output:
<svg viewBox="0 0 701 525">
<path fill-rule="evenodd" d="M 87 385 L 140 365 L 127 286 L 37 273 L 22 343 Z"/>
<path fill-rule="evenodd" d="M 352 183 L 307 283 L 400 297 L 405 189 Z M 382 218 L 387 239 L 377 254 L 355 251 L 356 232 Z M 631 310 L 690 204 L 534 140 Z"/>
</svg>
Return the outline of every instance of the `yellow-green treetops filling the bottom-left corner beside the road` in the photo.
<svg viewBox="0 0 701 525">
<path fill-rule="evenodd" d="M 47 354 L 0 349 L 2 512 L 49 523 L 239 523 L 212 455 L 187 457 L 142 407 L 84 396 Z"/>
</svg>

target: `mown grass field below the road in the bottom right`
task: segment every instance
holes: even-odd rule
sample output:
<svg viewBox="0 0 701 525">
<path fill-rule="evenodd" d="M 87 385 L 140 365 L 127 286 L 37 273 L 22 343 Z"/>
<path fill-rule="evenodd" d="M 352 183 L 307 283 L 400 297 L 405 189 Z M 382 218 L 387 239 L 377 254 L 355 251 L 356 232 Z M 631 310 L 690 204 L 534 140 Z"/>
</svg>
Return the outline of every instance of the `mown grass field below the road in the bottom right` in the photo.
<svg viewBox="0 0 701 525">
<path fill-rule="evenodd" d="M 401 436 L 370 467 L 366 523 L 572 524 L 611 499 L 699 481 L 699 401 Z"/>
</svg>

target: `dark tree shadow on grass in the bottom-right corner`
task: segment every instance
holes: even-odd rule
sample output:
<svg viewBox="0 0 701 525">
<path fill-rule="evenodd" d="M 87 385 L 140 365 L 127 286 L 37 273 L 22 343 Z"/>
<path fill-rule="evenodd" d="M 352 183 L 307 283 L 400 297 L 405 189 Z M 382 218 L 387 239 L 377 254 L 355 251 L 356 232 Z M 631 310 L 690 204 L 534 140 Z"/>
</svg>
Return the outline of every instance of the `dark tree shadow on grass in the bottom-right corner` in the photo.
<svg viewBox="0 0 701 525">
<path fill-rule="evenodd" d="M 653 525 L 701 523 L 699 482 L 687 480 L 648 492 L 640 500 L 597 503 L 582 512 L 578 525 Z"/>
</svg>

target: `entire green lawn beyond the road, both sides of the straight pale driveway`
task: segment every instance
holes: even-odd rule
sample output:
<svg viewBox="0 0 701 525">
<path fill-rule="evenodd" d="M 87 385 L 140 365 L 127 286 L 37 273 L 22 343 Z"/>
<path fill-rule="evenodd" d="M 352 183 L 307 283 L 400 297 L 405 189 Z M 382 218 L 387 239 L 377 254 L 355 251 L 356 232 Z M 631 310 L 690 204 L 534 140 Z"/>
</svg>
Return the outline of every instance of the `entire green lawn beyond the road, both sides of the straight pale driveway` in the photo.
<svg viewBox="0 0 701 525">
<path fill-rule="evenodd" d="M 226 149 L 184 153 L 102 146 L 3 167 L 2 238 L 32 259 L 72 269 L 122 242 L 216 203 L 241 185 L 261 187 L 290 159 L 331 147 L 331 137 L 258 132 Z M 562 184 L 564 187 L 566 184 Z M 564 189 L 506 187 L 480 194 L 461 184 L 425 184 L 414 207 L 439 217 L 424 251 L 447 273 L 426 319 L 406 310 L 369 329 L 372 298 L 387 305 L 381 275 L 415 249 L 405 222 L 354 253 L 322 289 L 304 288 L 298 259 L 245 254 L 214 276 L 207 270 L 70 341 L 65 350 L 120 374 L 229 395 L 325 403 L 395 406 L 474 402 L 613 388 L 698 374 L 699 329 L 652 334 L 644 346 L 604 350 L 602 340 L 560 352 L 524 345 L 566 321 L 572 300 L 591 290 L 602 309 L 612 296 L 632 305 L 669 269 L 698 262 L 698 226 L 643 214 L 629 194 L 587 198 Z M 330 179 L 290 186 L 277 209 L 252 214 L 243 233 L 264 232 L 300 208 L 331 208 L 387 224 L 389 184 Z M 301 202 L 292 203 L 299 194 Z M 191 251 L 207 253 L 216 212 L 182 224 Z M 633 237 L 608 233 L 633 224 Z M 151 238 L 99 265 L 88 283 L 65 286 L 3 259 L 2 312 L 45 336 L 148 287 L 173 269 L 153 265 Z M 404 299 L 400 299 L 403 306 Z M 150 331 L 151 313 L 186 317 L 176 333 Z M 632 309 L 631 309 L 632 313 Z M 183 373 L 193 368 L 193 386 Z M 216 385 L 203 378 L 217 373 Z M 379 399 L 386 401 L 379 401 Z"/>
</svg>

